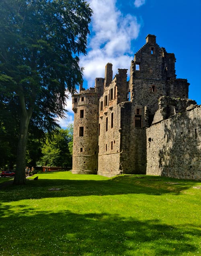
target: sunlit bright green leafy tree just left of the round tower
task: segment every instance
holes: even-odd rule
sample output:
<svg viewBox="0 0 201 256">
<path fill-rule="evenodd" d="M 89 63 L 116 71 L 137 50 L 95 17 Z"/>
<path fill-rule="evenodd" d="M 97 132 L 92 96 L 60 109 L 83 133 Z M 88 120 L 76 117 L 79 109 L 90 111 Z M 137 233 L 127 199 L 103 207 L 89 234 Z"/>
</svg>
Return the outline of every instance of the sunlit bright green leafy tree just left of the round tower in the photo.
<svg viewBox="0 0 201 256">
<path fill-rule="evenodd" d="M 69 125 L 66 130 L 58 129 L 47 135 L 42 148 L 42 165 L 72 167 L 72 153 L 70 152 L 70 142 L 73 140 L 72 130 L 72 125 Z M 49 140 L 49 136 L 51 140 Z"/>
</svg>

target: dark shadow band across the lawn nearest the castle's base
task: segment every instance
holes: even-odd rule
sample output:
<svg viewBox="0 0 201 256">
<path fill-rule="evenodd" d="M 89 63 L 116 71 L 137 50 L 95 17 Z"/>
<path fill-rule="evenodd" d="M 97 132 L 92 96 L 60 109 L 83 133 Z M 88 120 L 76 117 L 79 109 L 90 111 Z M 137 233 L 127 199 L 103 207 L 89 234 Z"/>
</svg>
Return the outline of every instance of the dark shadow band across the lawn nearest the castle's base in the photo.
<svg viewBox="0 0 201 256">
<path fill-rule="evenodd" d="M 172 184 L 169 182 L 168 184 L 168 181 L 176 182 L 172 182 Z M 23 199 L 90 195 L 178 195 L 194 184 L 194 181 L 182 181 L 165 177 L 159 177 L 156 180 L 152 177 L 152 180 L 150 180 L 150 176 L 146 176 L 144 179 L 137 179 L 135 176 L 117 176 L 110 180 L 27 180 L 27 184 L 23 186 L 8 184 L 8 186 L 2 187 L 0 198 L 2 202 L 9 202 Z M 50 188 L 59 188 L 60 190 L 49 191 Z"/>
</svg>

